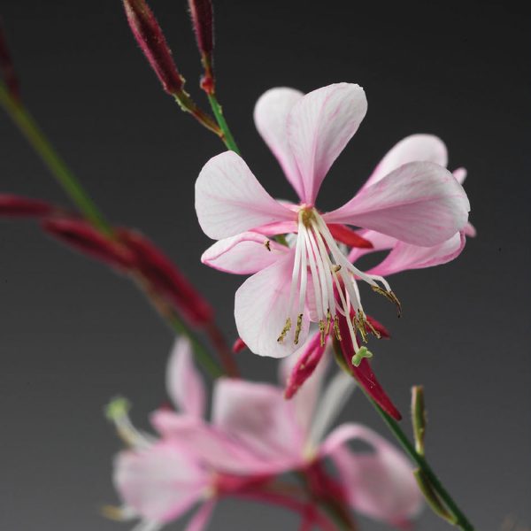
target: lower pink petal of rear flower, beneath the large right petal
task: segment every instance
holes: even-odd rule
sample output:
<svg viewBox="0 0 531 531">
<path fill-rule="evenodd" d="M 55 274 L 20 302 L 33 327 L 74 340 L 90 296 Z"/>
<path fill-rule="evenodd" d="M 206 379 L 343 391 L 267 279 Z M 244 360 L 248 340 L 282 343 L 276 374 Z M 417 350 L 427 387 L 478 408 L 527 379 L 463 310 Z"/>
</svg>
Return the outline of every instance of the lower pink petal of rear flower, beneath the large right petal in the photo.
<svg viewBox="0 0 531 531">
<path fill-rule="evenodd" d="M 434 247 L 419 247 L 411 243 L 397 242 L 389 255 L 367 273 L 387 276 L 408 269 L 440 266 L 457 258 L 465 248 L 465 243 L 464 231 Z"/>
</svg>

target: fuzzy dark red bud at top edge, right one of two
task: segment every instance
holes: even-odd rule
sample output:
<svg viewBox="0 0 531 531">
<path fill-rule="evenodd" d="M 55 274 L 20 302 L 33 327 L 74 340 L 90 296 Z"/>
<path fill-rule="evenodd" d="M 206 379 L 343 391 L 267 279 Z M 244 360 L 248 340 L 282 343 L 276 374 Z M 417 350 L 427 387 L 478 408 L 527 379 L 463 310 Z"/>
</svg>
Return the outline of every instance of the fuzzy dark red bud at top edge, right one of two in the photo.
<svg viewBox="0 0 531 531">
<path fill-rule="evenodd" d="M 214 27 L 212 0 L 189 0 L 190 16 L 196 33 L 197 48 L 201 52 L 204 76 L 201 88 L 207 94 L 214 92 L 212 73 L 212 50 L 214 48 Z"/>
</svg>

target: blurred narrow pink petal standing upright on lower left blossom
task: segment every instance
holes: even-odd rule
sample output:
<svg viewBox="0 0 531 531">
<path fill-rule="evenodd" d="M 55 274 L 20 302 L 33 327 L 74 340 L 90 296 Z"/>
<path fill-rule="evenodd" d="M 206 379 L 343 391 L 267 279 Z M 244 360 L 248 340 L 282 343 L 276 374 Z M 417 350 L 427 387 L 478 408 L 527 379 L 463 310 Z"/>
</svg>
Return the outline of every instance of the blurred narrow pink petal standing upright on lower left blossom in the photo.
<svg viewBox="0 0 531 531">
<path fill-rule="evenodd" d="M 192 346 L 185 337 L 177 339 L 166 368 L 166 389 L 173 403 L 193 417 L 204 416 L 206 390 L 194 364 Z"/>
</svg>

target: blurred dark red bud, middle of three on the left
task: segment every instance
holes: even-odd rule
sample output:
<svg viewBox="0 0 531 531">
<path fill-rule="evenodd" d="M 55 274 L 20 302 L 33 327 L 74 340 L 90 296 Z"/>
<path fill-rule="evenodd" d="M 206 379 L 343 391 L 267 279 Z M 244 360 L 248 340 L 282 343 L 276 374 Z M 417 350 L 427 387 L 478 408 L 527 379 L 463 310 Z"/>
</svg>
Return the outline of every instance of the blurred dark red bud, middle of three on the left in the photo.
<svg viewBox="0 0 531 531">
<path fill-rule="evenodd" d="M 42 230 L 68 247 L 120 271 L 135 266 L 135 255 L 126 246 L 102 235 L 84 219 L 44 219 Z"/>
</svg>

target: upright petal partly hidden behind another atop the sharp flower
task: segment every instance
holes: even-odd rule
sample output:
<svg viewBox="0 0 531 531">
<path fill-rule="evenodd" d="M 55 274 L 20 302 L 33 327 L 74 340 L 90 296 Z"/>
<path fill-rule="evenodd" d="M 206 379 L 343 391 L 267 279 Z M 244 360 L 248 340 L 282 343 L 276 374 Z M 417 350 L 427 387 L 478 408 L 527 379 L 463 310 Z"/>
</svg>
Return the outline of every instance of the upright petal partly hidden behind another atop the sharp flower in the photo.
<svg viewBox="0 0 531 531">
<path fill-rule="evenodd" d="M 254 110 L 258 133 L 273 151 L 301 200 L 304 197 L 304 183 L 289 148 L 287 121 L 289 112 L 303 96 L 299 90 L 287 87 L 270 89 L 258 98 Z"/>
</svg>

